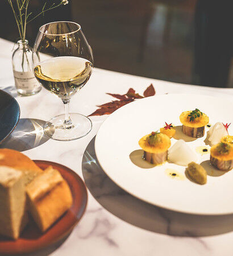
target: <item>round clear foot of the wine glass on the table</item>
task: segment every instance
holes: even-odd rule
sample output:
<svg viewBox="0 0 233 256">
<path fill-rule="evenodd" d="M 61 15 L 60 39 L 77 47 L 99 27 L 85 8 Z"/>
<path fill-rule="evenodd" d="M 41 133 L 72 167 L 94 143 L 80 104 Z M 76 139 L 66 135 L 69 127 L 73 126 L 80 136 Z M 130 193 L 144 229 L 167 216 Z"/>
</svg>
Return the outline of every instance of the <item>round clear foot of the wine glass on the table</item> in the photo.
<svg viewBox="0 0 233 256">
<path fill-rule="evenodd" d="M 72 125 L 64 124 L 65 114 L 51 118 L 44 125 L 44 133 L 56 141 L 73 141 L 88 134 L 92 123 L 85 115 L 70 113 Z"/>
</svg>

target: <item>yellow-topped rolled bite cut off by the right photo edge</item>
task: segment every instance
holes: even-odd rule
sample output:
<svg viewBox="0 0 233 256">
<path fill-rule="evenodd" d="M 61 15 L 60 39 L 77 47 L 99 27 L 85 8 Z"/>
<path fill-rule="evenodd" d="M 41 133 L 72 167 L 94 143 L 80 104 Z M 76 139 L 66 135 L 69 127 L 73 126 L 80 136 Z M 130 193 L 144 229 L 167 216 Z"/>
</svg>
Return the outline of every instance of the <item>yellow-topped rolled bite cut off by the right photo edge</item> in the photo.
<svg viewBox="0 0 233 256">
<path fill-rule="evenodd" d="M 218 170 L 230 171 L 233 168 L 233 147 L 224 142 L 211 147 L 210 163 Z"/>
</svg>

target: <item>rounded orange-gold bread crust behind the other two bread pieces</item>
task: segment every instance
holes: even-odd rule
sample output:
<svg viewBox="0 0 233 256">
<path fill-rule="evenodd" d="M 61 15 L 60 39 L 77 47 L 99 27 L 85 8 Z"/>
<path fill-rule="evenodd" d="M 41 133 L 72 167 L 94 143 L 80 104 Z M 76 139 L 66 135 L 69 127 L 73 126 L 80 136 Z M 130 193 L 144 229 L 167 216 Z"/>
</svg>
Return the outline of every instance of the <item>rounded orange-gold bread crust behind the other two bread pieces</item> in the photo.
<svg viewBox="0 0 233 256">
<path fill-rule="evenodd" d="M 25 185 L 30 183 L 36 176 L 43 172 L 26 155 L 8 148 L 0 149 L 0 166 L 9 166 L 22 171 Z"/>
</svg>

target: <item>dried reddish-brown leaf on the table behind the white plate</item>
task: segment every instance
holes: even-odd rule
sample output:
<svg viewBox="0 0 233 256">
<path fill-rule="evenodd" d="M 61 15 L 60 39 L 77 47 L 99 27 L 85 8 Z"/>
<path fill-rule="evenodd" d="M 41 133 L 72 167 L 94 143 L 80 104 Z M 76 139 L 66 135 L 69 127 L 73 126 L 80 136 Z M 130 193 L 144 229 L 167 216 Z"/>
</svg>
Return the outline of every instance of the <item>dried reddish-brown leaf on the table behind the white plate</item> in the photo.
<svg viewBox="0 0 233 256">
<path fill-rule="evenodd" d="M 153 85 L 151 84 L 147 89 L 145 89 L 144 97 L 140 96 L 138 93 L 135 93 L 135 90 L 130 88 L 126 94 L 120 95 L 120 94 L 113 94 L 113 93 L 107 93 L 110 96 L 113 96 L 114 98 L 118 98 L 119 101 L 111 101 L 107 102 L 102 105 L 97 105 L 99 109 L 95 110 L 92 114 L 89 115 L 108 115 L 113 113 L 116 109 L 119 109 L 120 107 L 138 99 L 138 98 L 144 98 L 155 95 L 155 89 L 153 88 Z"/>
</svg>

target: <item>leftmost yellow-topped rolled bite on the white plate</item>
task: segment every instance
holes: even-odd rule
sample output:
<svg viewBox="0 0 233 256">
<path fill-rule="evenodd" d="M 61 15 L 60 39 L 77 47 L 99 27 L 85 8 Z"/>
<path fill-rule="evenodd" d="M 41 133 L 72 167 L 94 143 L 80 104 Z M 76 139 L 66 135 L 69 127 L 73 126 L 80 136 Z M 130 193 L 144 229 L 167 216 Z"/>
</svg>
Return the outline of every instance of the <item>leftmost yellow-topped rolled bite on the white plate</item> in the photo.
<svg viewBox="0 0 233 256">
<path fill-rule="evenodd" d="M 162 164 L 168 159 L 170 138 L 163 133 L 152 132 L 140 139 L 139 146 L 144 151 L 145 160 L 155 165 Z"/>
</svg>

